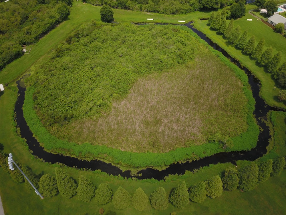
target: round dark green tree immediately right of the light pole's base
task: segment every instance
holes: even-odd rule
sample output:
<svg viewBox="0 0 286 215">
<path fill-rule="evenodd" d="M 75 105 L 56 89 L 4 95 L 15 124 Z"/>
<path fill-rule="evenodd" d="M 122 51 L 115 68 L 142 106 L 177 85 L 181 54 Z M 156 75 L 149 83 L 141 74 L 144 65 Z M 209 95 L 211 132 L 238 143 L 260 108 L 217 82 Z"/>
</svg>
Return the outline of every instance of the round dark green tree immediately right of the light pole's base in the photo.
<svg viewBox="0 0 286 215">
<path fill-rule="evenodd" d="M 45 174 L 39 181 L 39 192 L 46 197 L 53 197 L 59 191 L 57 189 L 57 180 L 51 174 Z"/>
</svg>

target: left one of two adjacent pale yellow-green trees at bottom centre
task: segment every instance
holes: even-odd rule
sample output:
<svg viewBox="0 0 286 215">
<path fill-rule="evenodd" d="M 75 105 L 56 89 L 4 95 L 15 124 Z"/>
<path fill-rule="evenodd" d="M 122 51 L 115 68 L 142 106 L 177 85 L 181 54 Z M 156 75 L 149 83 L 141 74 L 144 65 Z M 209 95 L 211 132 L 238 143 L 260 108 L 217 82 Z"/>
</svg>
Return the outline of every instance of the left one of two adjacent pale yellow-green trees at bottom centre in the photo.
<svg viewBox="0 0 286 215">
<path fill-rule="evenodd" d="M 131 204 L 131 195 L 120 186 L 112 197 L 112 203 L 117 210 L 125 209 Z"/>
</svg>

